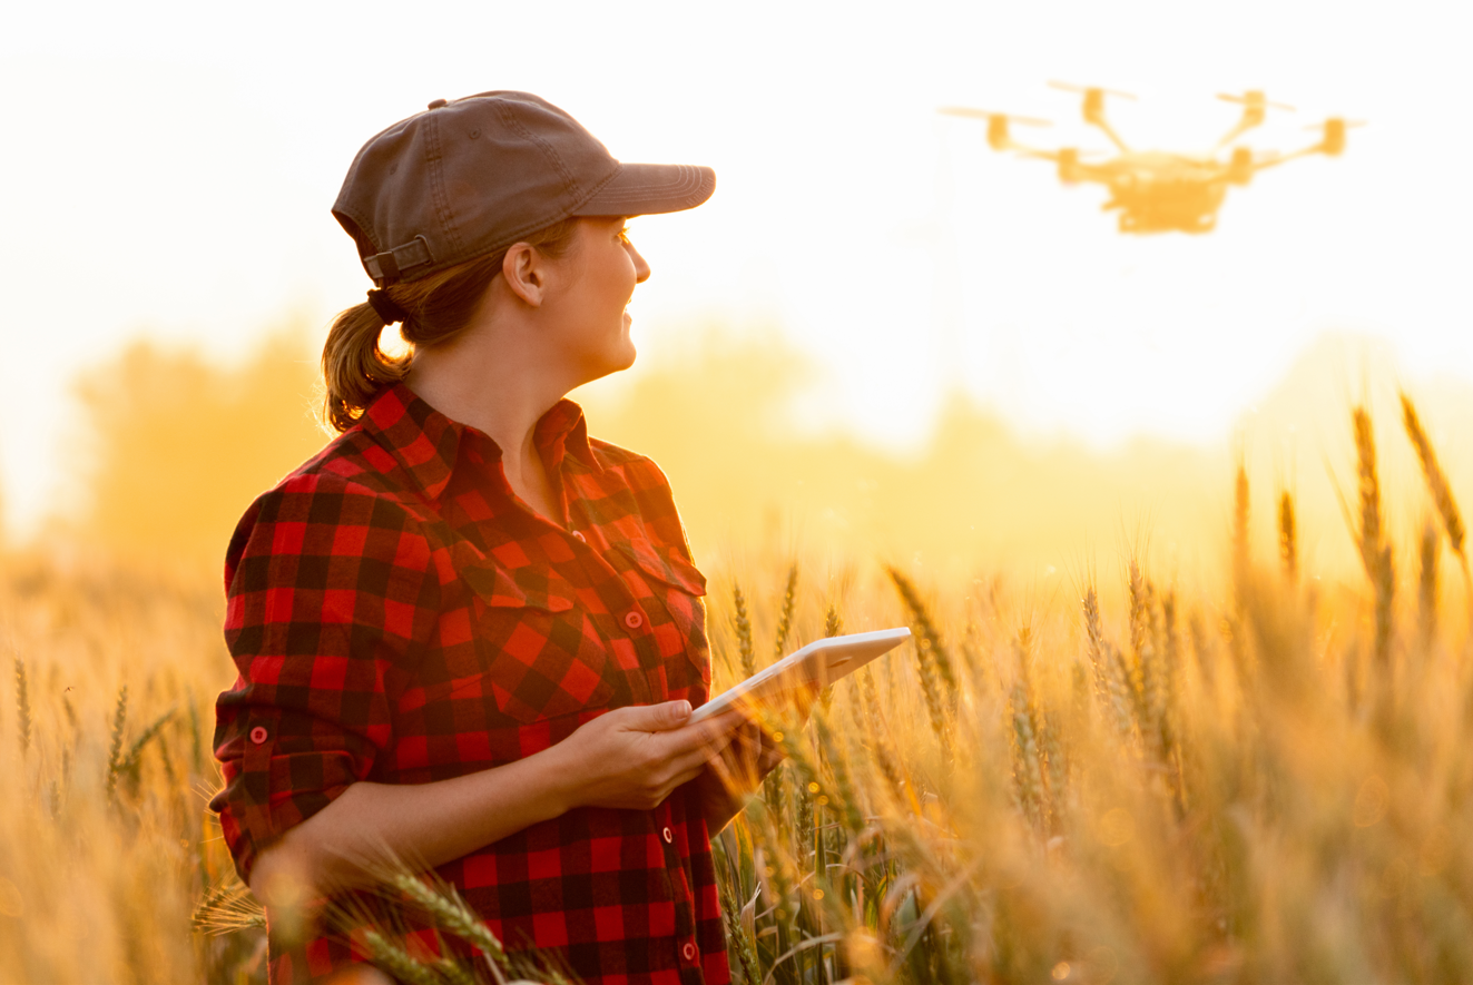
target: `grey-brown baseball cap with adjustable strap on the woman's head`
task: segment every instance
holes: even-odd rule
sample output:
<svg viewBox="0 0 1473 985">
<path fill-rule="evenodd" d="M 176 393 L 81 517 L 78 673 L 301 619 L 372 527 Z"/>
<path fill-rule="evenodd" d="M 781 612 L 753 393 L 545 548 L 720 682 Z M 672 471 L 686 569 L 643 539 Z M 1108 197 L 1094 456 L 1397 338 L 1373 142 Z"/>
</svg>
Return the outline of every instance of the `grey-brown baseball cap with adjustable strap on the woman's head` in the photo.
<svg viewBox="0 0 1473 985">
<path fill-rule="evenodd" d="M 716 172 L 620 163 L 530 93 L 437 99 L 354 158 L 333 216 L 379 287 L 502 250 L 574 215 L 653 215 L 711 197 Z"/>
</svg>

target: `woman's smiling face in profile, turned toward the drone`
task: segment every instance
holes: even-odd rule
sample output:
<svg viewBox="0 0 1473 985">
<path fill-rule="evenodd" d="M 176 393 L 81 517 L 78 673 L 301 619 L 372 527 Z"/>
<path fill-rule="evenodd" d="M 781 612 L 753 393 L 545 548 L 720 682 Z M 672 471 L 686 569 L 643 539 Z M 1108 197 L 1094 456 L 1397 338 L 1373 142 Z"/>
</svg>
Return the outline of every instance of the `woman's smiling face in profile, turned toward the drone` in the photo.
<svg viewBox="0 0 1473 985">
<path fill-rule="evenodd" d="M 579 219 L 577 240 L 558 262 L 566 274 L 549 297 L 557 345 L 586 380 L 597 380 L 635 361 L 625 306 L 650 265 L 629 241 L 622 216 Z"/>
</svg>

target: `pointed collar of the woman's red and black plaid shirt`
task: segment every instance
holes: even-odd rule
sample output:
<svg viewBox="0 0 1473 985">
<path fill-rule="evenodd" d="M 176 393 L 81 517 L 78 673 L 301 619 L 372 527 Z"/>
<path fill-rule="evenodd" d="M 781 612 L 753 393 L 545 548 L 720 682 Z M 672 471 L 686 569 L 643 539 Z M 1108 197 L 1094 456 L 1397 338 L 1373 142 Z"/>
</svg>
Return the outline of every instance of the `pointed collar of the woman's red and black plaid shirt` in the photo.
<svg viewBox="0 0 1473 985">
<path fill-rule="evenodd" d="M 436 411 L 402 383 L 380 393 L 364 411 L 361 424 L 430 499 L 439 499 L 445 492 L 460 458 L 461 440 L 467 431 L 474 431 Z M 491 437 L 482 437 L 499 459 L 501 448 Z M 595 473 L 604 471 L 588 443 L 583 408 L 567 398 L 538 420 L 532 440 L 552 470 L 561 468 L 563 459 L 572 453 Z"/>
</svg>

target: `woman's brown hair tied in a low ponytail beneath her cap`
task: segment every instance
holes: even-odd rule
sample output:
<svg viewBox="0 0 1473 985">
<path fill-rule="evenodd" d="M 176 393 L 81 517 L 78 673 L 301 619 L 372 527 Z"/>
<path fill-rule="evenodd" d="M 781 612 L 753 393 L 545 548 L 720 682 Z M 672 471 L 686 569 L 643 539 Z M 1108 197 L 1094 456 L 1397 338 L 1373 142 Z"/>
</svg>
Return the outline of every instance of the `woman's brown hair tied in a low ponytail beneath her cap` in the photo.
<svg viewBox="0 0 1473 985">
<path fill-rule="evenodd" d="M 567 218 L 533 233 L 521 243 L 557 259 L 567 253 L 577 234 L 577 219 Z M 510 247 L 507 247 L 510 249 Z M 390 284 L 382 292 L 389 312 L 404 312 L 399 334 L 409 346 L 402 356 L 379 347 L 389 321 L 370 302 L 339 312 L 323 346 L 323 417 L 336 431 L 346 431 L 380 393 L 401 383 L 421 346 L 449 342 L 470 324 L 492 278 L 501 272 L 507 250 L 468 259 L 412 281 Z M 392 306 L 390 306 L 392 305 Z"/>
</svg>

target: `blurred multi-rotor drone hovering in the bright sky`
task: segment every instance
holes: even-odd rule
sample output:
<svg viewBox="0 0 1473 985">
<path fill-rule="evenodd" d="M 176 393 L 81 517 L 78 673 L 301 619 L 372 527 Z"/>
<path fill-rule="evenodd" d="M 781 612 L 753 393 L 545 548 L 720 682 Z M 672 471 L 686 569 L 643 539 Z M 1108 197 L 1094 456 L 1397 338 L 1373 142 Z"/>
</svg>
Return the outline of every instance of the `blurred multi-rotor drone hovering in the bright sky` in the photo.
<svg viewBox="0 0 1473 985">
<path fill-rule="evenodd" d="M 1320 141 L 1315 144 L 1286 155 L 1254 153 L 1249 147 L 1234 146 L 1239 137 L 1261 127 L 1270 109 L 1293 112 L 1293 107 L 1271 103 L 1262 91 L 1249 90 L 1242 96 L 1218 96 L 1223 102 L 1242 106 L 1243 115 L 1237 125 L 1217 141 L 1212 153 L 1199 156 L 1131 150 L 1105 119 L 1105 97 L 1136 99 L 1134 96 L 1065 82 L 1049 82 L 1049 85 L 1083 94 L 1084 122 L 1103 131 L 1118 152 L 1115 158 L 1089 162 L 1084 158 L 1090 152 L 1080 152 L 1075 147 L 1040 150 L 1013 140 L 1012 124 L 1047 127 L 1050 124 L 1046 119 L 993 113 L 968 106 L 943 106 L 940 112 L 949 116 L 985 119 L 987 143 L 993 150 L 1012 150 L 1024 158 L 1052 160 L 1059 171 L 1059 181 L 1065 184 L 1094 181 L 1106 186 L 1111 197 L 1103 209 L 1118 212 L 1121 233 L 1209 233 L 1217 227 L 1217 211 L 1223 206 L 1228 186 L 1246 186 L 1259 171 L 1277 168 L 1298 158 L 1309 155 L 1337 158 L 1345 152 L 1345 131 L 1364 125 L 1332 116 L 1323 124 L 1305 128 L 1320 131 Z M 1231 152 L 1223 159 L 1221 155 L 1228 147 Z"/>
</svg>

